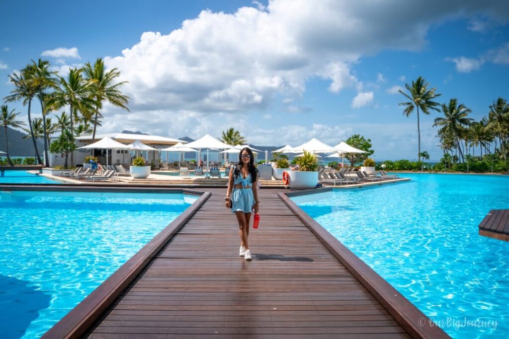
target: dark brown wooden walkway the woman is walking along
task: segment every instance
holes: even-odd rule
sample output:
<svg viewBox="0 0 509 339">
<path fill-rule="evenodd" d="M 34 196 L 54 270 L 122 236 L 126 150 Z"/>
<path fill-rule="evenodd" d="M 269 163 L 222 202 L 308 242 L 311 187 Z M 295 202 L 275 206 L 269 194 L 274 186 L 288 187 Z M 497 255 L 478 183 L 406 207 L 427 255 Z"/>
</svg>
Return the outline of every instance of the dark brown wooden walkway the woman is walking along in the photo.
<svg viewBox="0 0 509 339">
<path fill-rule="evenodd" d="M 129 260 L 44 337 L 448 337 L 360 259 L 352 269 L 358 262 L 312 229 L 287 191 L 259 191 L 252 261 L 238 256 L 225 189 L 207 191 L 166 228 L 170 240 L 152 245 L 148 263 Z M 366 288 L 372 281 L 379 286 Z"/>
</svg>

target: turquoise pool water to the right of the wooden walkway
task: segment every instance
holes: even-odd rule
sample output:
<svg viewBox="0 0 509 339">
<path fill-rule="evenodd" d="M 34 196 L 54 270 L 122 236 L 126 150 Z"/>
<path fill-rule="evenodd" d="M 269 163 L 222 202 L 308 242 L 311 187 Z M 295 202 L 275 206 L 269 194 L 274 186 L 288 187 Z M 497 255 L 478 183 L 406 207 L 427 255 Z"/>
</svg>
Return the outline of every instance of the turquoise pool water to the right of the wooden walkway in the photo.
<svg viewBox="0 0 509 339">
<path fill-rule="evenodd" d="M 509 337 L 509 242 L 478 235 L 509 176 L 412 181 L 292 198 L 455 338 Z"/>
</svg>

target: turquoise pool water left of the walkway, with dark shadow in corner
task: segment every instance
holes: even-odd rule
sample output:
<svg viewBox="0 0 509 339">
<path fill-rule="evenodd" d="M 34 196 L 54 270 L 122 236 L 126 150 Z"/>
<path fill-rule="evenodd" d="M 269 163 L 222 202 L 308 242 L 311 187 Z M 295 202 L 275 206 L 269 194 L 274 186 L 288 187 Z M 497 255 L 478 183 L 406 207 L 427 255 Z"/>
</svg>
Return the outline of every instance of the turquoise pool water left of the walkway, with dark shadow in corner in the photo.
<svg viewBox="0 0 509 339">
<path fill-rule="evenodd" d="M 2 339 L 43 335 L 195 200 L 26 191 L 0 198 Z"/>
</svg>

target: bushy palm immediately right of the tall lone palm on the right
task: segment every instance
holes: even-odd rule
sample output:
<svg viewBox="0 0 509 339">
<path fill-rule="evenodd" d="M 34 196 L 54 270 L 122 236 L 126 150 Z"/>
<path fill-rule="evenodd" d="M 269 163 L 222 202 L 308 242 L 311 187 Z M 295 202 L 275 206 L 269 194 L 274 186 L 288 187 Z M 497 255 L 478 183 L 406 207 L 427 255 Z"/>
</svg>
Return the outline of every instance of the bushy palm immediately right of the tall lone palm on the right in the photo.
<svg viewBox="0 0 509 339">
<path fill-rule="evenodd" d="M 458 105 L 458 99 L 450 99 L 449 104 L 442 104 L 442 113 L 445 117 L 435 118 L 433 127 L 441 126 L 442 129 L 452 135 L 456 142 L 456 147 L 460 152 L 460 158 L 463 158 L 460 138 L 465 134 L 466 128 L 470 126 L 472 119 L 467 118 L 468 113 L 472 112 L 463 104 Z"/>
</svg>

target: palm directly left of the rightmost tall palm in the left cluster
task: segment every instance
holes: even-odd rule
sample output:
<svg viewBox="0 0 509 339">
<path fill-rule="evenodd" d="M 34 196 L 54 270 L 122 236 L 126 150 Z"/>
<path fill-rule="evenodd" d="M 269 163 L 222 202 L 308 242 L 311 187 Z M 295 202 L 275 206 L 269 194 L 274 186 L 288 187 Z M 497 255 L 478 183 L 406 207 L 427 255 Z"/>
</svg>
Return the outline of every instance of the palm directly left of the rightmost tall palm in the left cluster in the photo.
<svg viewBox="0 0 509 339">
<path fill-rule="evenodd" d="M 47 97 L 46 106 L 49 110 L 58 110 L 69 106 L 70 132 L 74 135 L 74 124 L 78 120 L 78 112 L 90 114 L 96 106 L 92 98 L 93 82 L 81 76 L 83 69 L 69 69 L 67 79 L 59 76 L 60 87 Z M 71 153 L 71 167 L 74 166 L 74 157 Z"/>
</svg>

